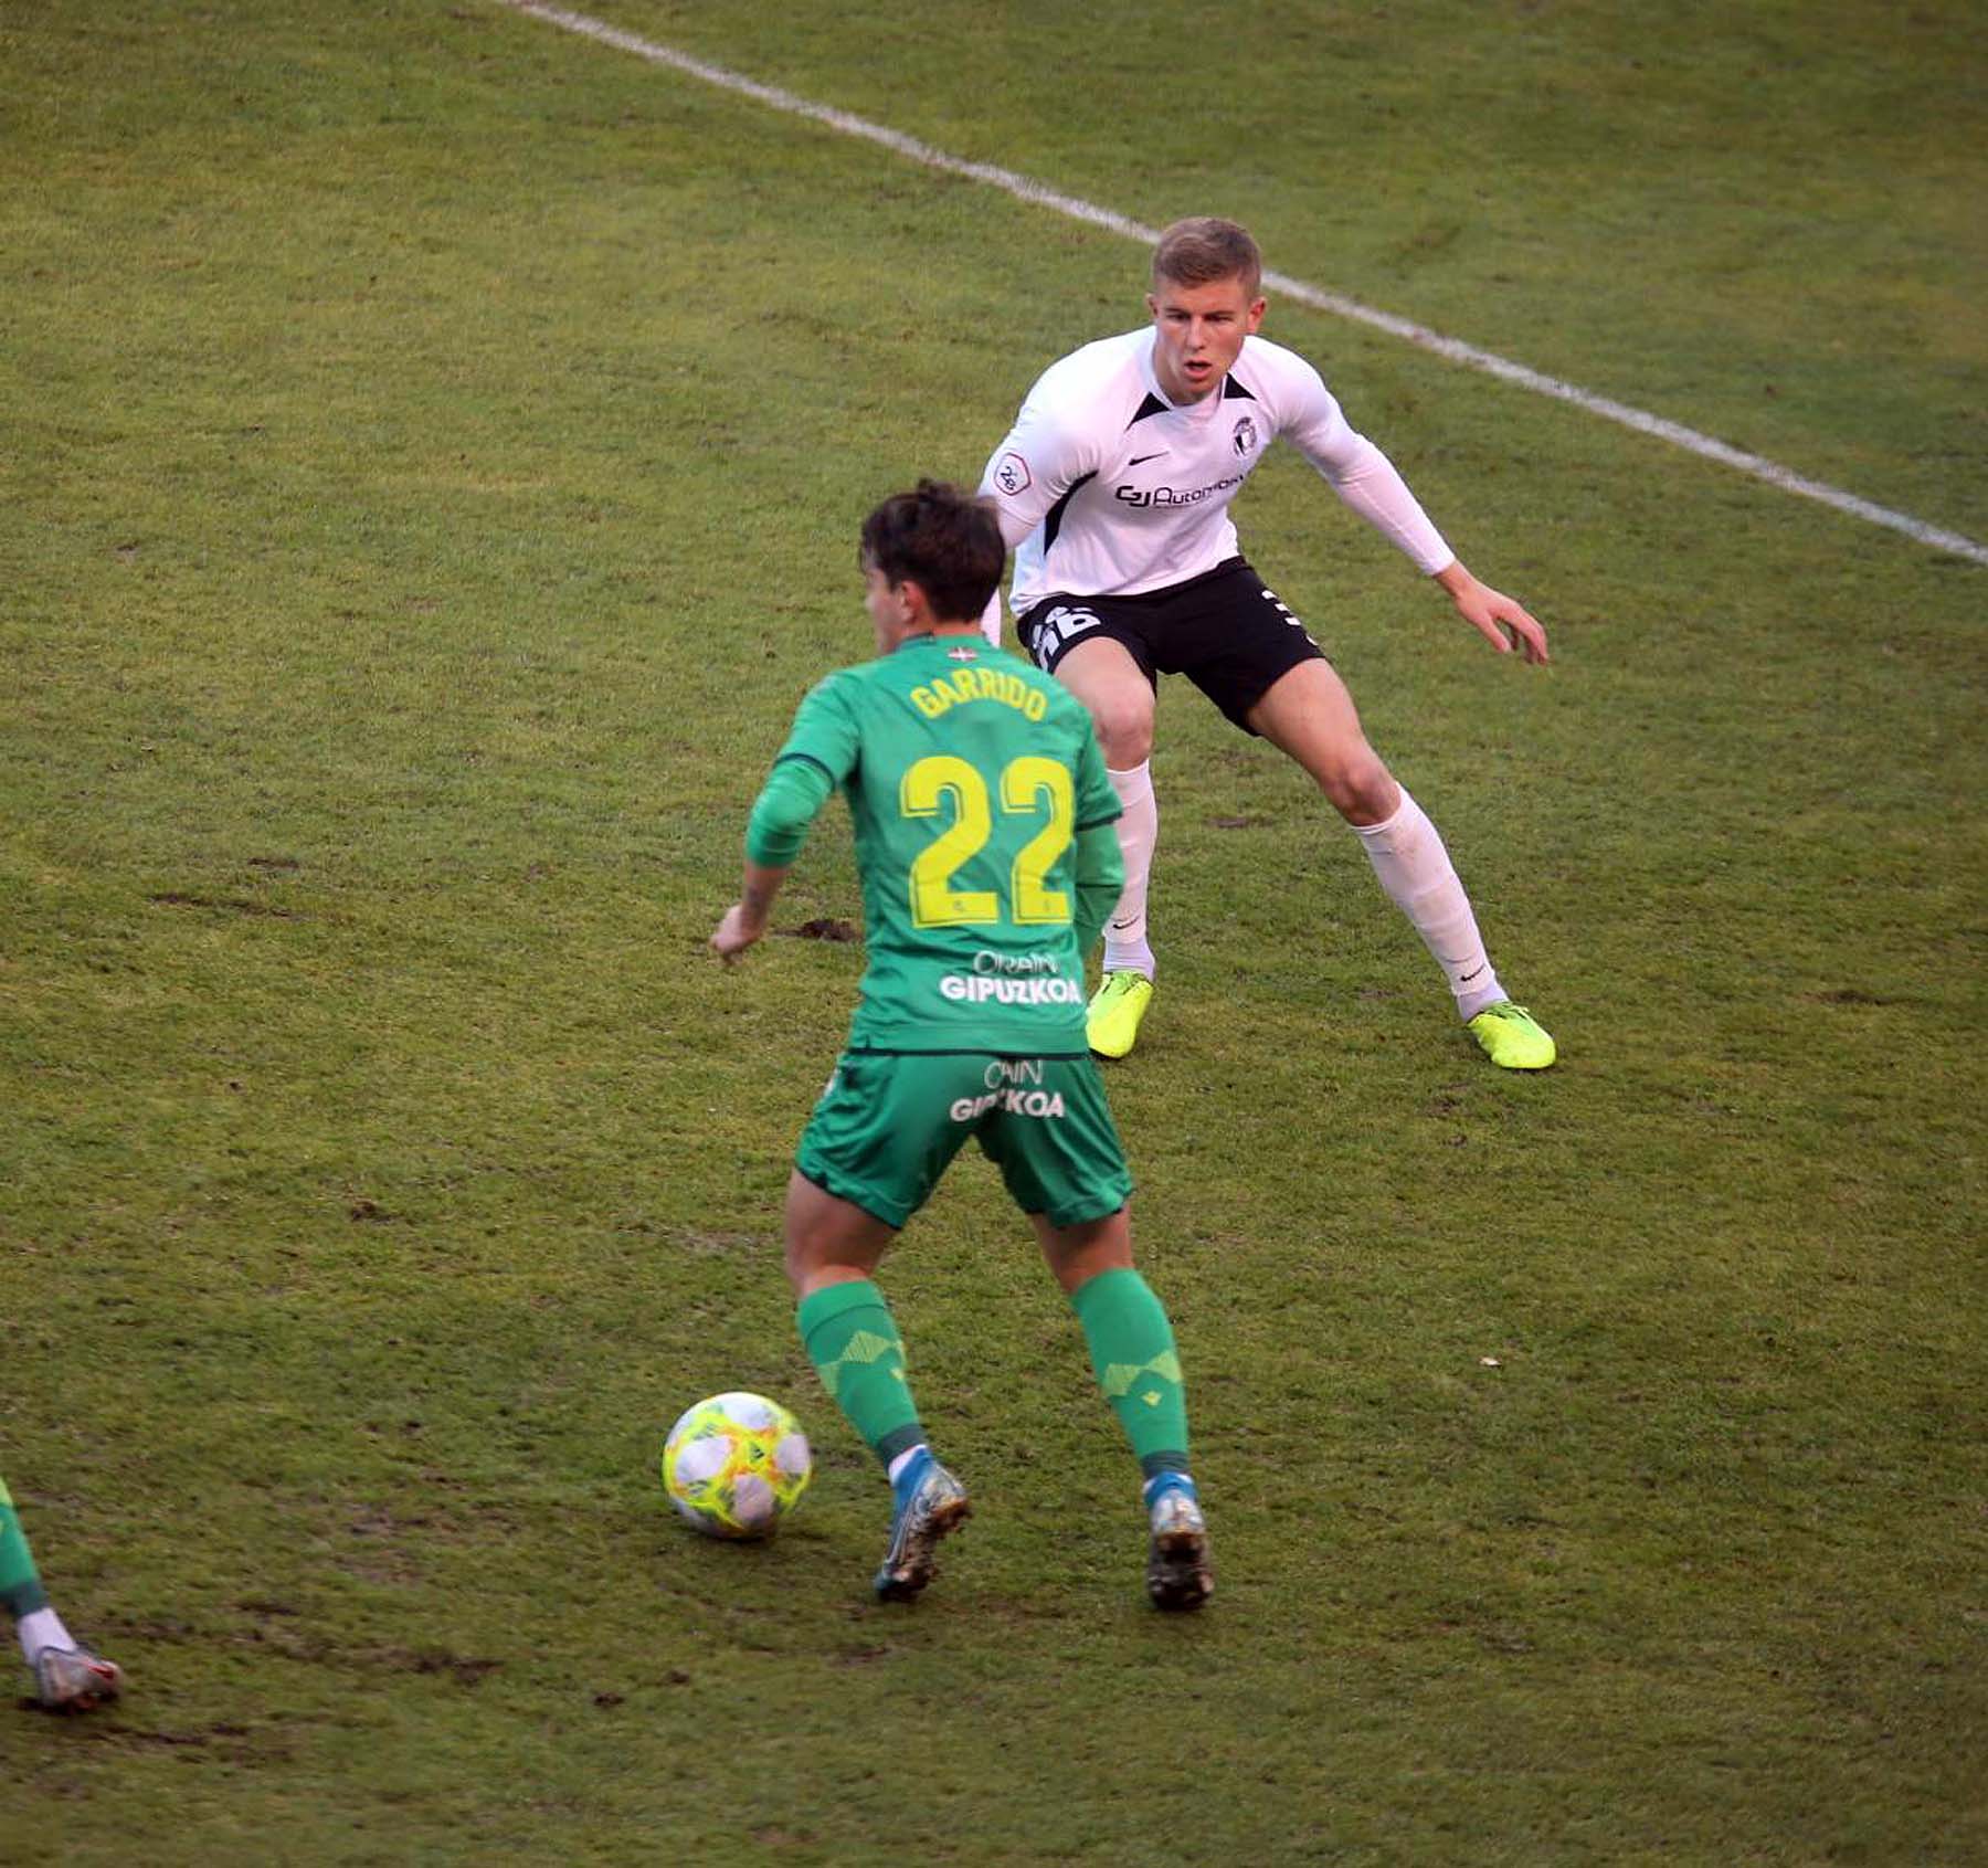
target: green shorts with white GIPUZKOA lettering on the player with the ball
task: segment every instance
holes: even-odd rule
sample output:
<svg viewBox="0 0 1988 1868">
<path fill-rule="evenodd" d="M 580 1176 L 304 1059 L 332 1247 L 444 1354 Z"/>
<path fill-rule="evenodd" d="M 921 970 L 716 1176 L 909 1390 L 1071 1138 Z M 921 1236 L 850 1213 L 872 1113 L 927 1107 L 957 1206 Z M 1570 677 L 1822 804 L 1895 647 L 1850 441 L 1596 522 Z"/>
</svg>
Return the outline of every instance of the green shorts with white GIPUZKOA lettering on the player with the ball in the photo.
<svg viewBox="0 0 1988 1868">
<path fill-rule="evenodd" d="M 903 1225 L 968 1136 L 1014 1204 L 1052 1225 L 1105 1219 L 1131 1200 L 1089 1056 L 845 1050 L 793 1164 L 837 1200 Z"/>
</svg>

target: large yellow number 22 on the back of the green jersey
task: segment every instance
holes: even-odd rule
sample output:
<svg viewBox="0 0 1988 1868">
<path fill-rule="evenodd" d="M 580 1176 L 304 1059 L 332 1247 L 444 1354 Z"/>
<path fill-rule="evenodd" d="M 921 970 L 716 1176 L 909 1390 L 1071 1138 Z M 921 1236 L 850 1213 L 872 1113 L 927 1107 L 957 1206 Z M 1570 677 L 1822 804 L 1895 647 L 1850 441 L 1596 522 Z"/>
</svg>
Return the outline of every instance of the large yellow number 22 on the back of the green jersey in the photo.
<svg viewBox="0 0 1988 1868">
<path fill-rule="evenodd" d="M 911 865 L 911 919 L 918 927 L 968 927 L 1002 919 L 994 889 L 956 889 L 952 883 L 994 836 L 988 784 L 978 768 L 952 754 L 920 758 L 897 788 L 897 808 L 907 818 L 936 818 L 952 802 L 952 822 L 918 851 Z M 1046 814 L 1048 822 L 1014 857 L 1008 871 L 1008 913 L 1024 925 L 1070 919 L 1070 895 L 1044 885 L 1056 859 L 1070 847 L 1076 804 L 1070 768 L 1054 758 L 1010 760 L 1000 774 L 1000 808 L 1010 818 Z"/>
</svg>

